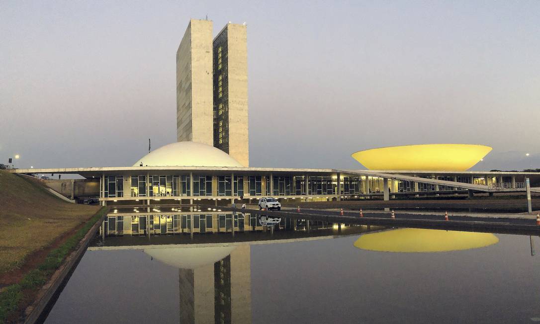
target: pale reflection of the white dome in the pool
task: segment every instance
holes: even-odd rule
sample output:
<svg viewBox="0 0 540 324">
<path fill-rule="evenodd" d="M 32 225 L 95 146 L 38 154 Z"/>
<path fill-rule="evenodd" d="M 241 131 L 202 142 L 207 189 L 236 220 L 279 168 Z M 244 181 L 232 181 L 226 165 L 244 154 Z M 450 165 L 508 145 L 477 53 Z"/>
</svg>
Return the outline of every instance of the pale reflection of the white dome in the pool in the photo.
<svg viewBox="0 0 540 324">
<path fill-rule="evenodd" d="M 213 264 L 231 254 L 234 246 L 147 248 L 144 253 L 179 269 L 196 269 Z"/>
</svg>

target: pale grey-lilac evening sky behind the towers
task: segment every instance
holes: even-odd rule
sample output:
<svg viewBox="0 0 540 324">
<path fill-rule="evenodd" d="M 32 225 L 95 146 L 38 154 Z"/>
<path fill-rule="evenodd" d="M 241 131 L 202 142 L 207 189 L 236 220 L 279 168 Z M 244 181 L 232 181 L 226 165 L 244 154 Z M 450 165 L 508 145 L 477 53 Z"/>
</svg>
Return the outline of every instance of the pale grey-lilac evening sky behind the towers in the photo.
<svg viewBox="0 0 540 324">
<path fill-rule="evenodd" d="M 540 167 L 539 1 L 0 2 L 0 163 L 130 166 L 176 140 L 190 18 L 247 23 L 251 166 L 471 143 Z M 530 157 L 525 157 L 530 153 Z"/>
</svg>

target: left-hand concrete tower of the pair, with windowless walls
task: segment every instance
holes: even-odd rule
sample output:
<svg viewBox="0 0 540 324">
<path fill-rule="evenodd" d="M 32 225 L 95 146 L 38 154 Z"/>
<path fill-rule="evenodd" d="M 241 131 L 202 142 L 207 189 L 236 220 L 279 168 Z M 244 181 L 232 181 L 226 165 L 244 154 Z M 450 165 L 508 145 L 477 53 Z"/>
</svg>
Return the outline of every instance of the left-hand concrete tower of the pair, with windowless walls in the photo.
<svg viewBox="0 0 540 324">
<path fill-rule="evenodd" d="M 177 140 L 212 145 L 212 22 L 191 19 L 176 54 Z"/>
</svg>

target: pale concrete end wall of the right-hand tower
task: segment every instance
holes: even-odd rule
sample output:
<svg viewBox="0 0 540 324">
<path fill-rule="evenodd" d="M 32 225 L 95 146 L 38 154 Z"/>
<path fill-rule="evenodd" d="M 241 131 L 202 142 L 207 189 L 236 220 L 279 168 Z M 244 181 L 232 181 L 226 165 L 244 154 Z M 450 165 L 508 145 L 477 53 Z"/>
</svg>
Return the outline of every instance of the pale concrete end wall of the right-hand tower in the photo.
<svg viewBox="0 0 540 324">
<path fill-rule="evenodd" d="M 247 29 L 227 24 L 229 154 L 249 166 Z"/>
</svg>

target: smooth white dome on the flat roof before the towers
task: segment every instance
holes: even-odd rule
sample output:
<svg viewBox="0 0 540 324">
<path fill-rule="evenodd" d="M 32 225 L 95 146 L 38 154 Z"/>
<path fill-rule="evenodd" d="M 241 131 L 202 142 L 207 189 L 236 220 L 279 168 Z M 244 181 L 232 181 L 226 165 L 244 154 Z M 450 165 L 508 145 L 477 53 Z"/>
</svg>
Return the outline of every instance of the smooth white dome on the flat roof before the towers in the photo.
<svg viewBox="0 0 540 324">
<path fill-rule="evenodd" d="M 232 166 L 242 165 L 229 154 L 213 146 L 192 141 L 176 142 L 161 146 L 133 166 Z"/>
</svg>

